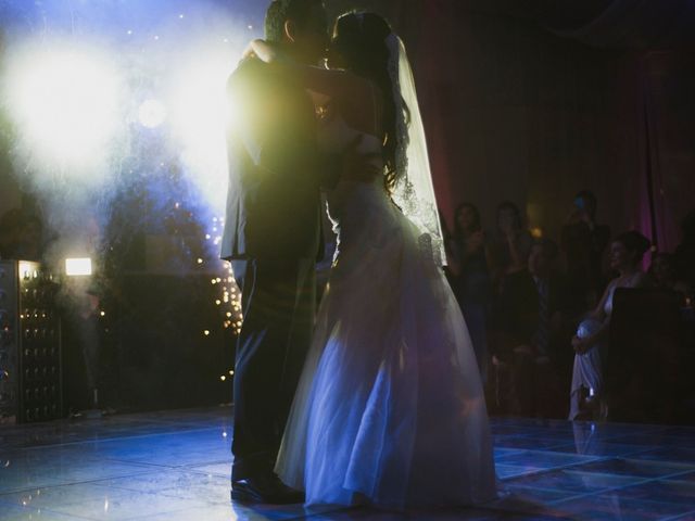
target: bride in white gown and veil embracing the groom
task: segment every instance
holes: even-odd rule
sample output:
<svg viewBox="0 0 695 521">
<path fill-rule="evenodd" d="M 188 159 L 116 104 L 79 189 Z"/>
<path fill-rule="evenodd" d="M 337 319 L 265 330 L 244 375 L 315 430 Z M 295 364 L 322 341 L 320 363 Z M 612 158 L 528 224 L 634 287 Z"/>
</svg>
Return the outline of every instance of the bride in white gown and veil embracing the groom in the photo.
<svg viewBox="0 0 695 521">
<path fill-rule="evenodd" d="M 336 23 L 328 69 L 294 64 L 263 40 L 251 50 L 303 81 L 324 151 L 358 143 L 383 173 L 343 178 L 327 193 L 339 246 L 276 472 L 313 505 L 495 498 L 482 385 L 441 269 L 403 43 L 380 16 L 348 13 Z"/>
</svg>

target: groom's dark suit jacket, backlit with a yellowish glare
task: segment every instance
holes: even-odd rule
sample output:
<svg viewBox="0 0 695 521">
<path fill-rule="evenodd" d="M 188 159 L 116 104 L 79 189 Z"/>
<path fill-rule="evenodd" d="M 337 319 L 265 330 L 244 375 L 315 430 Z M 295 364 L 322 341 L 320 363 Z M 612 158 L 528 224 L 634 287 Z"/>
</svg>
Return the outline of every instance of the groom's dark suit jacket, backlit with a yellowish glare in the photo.
<svg viewBox="0 0 695 521">
<path fill-rule="evenodd" d="M 229 188 L 220 256 L 291 262 L 323 250 L 314 104 L 290 67 L 242 61 L 227 84 Z"/>
</svg>

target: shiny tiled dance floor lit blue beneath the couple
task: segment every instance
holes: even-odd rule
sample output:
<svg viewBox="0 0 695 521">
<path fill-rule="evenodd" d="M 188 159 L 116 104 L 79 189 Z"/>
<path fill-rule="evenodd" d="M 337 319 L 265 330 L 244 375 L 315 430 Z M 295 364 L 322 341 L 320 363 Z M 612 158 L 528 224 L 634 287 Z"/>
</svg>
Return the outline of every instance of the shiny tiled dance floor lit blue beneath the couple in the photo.
<svg viewBox="0 0 695 521">
<path fill-rule="evenodd" d="M 0 519 L 695 520 L 695 428 L 495 418 L 501 498 L 404 516 L 230 505 L 230 416 L 0 425 Z"/>
</svg>

